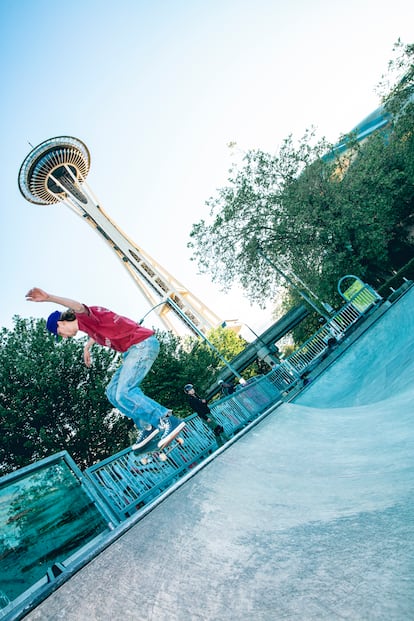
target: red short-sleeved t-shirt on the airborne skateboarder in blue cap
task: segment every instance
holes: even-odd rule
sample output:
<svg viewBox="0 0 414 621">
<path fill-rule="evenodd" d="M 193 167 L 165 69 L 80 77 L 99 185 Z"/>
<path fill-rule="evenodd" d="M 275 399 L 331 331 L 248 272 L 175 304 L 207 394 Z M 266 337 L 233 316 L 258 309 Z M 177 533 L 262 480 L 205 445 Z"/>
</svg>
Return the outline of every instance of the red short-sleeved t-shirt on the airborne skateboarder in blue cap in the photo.
<svg viewBox="0 0 414 621">
<path fill-rule="evenodd" d="M 145 341 L 154 334 L 132 319 L 117 315 L 102 306 L 85 306 L 87 313 L 76 313 L 79 330 L 86 332 L 99 345 L 125 352 L 131 345 Z"/>
</svg>

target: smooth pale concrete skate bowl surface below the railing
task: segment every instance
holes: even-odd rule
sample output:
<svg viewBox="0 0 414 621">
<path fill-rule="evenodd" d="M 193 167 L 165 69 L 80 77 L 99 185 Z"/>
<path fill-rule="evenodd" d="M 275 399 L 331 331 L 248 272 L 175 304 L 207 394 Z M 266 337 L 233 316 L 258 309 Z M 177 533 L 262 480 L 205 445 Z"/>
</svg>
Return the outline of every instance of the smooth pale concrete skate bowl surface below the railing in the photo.
<svg viewBox="0 0 414 621">
<path fill-rule="evenodd" d="M 414 618 L 413 303 L 411 288 L 26 618 Z"/>
</svg>

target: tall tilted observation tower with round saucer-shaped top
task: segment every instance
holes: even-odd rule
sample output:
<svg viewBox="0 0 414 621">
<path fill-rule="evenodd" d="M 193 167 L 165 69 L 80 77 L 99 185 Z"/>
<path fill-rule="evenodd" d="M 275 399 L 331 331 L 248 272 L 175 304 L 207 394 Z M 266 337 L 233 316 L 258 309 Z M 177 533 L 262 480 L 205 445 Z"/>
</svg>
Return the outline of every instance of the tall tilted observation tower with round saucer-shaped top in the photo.
<svg viewBox="0 0 414 621">
<path fill-rule="evenodd" d="M 37 205 L 64 203 L 100 233 L 150 305 L 156 307 L 154 311 L 167 329 L 180 334 L 184 324 L 199 336 L 199 332 L 219 325 L 221 320 L 215 313 L 134 244 L 103 211 L 86 183 L 89 167 L 89 150 L 81 140 L 72 136 L 50 138 L 25 158 L 18 177 L 20 192 Z"/>
</svg>

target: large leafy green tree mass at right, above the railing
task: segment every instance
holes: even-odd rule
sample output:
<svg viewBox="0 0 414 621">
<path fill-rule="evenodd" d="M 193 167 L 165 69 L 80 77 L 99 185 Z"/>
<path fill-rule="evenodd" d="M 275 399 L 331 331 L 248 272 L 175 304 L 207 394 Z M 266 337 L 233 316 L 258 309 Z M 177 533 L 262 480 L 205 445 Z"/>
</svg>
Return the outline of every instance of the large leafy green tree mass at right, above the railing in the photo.
<svg viewBox="0 0 414 621">
<path fill-rule="evenodd" d="M 298 144 L 289 136 L 275 155 L 245 154 L 207 201 L 209 221 L 192 227 L 189 247 L 202 271 L 224 287 L 240 282 L 266 304 L 284 279 L 260 248 L 335 306 L 344 274 L 378 287 L 413 257 L 414 46 L 403 52 L 404 80 L 388 97 L 386 133 L 359 144 L 348 136 L 346 157 L 326 158 L 332 146 L 312 131 Z M 297 292 L 289 298 L 296 303 Z"/>
</svg>

